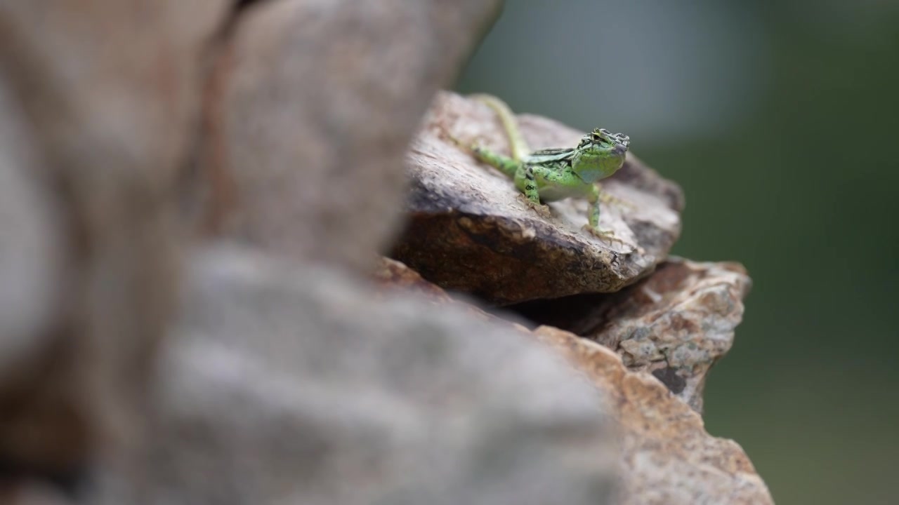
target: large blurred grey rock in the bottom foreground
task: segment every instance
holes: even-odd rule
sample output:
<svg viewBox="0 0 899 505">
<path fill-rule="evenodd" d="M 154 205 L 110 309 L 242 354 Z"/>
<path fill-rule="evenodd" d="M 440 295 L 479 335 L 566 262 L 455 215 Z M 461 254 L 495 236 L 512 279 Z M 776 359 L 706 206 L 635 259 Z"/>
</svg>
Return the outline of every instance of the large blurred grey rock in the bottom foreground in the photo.
<svg viewBox="0 0 899 505">
<path fill-rule="evenodd" d="M 99 503 L 610 501 L 604 403 L 530 335 L 258 255 L 200 254 L 188 275 L 132 455 L 147 487 Z"/>
</svg>

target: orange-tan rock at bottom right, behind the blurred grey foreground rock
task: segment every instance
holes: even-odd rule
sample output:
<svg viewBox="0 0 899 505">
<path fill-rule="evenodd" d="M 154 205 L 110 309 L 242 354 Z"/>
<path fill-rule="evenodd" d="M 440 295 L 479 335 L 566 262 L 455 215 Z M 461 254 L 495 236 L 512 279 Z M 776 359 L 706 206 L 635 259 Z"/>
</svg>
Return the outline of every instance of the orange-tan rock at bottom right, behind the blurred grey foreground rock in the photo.
<svg viewBox="0 0 899 505">
<path fill-rule="evenodd" d="M 743 448 L 709 436 L 699 413 L 656 377 L 628 370 L 613 351 L 574 333 L 549 326 L 535 333 L 565 352 L 613 406 L 623 431 L 622 505 L 774 502 Z"/>
</svg>

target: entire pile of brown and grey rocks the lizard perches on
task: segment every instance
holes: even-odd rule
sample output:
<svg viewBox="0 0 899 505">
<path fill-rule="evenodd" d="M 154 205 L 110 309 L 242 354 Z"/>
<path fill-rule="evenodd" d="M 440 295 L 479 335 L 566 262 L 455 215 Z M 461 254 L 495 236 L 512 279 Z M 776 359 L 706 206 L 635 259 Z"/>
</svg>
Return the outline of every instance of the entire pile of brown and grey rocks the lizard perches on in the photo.
<svg viewBox="0 0 899 505">
<path fill-rule="evenodd" d="M 0 503 L 770 502 L 680 189 L 628 155 L 602 241 L 426 111 L 498 4 L 0 2 Z"/>
</svg>

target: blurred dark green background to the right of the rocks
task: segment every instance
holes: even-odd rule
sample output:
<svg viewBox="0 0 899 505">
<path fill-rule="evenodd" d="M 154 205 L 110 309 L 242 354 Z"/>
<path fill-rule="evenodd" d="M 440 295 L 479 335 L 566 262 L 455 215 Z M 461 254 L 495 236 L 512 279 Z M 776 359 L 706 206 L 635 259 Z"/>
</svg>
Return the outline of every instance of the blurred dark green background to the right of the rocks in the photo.
<svg viewBox="0 0 899 505">
<path fill-rule="evenodd" d="M 509 0 L 458 89 L 628 133 L 674 253 L 754 281 L 708 431 L 779 503 L 899 502 L 899 2 Z"/>
</svg>

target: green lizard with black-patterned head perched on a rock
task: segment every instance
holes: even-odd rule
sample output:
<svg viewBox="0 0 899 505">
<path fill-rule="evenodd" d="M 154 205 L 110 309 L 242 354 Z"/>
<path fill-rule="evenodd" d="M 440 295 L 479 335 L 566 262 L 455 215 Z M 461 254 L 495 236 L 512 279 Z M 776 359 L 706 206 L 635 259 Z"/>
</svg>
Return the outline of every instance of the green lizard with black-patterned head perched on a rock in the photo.
<svg viewBox="0 0 899 505">
<path fill-rule="evenodd" d="M 474 94 L 470 98 L 484 102 L 493 109 L 503 123 L 512 146 L 512 157 L 500 155 L 482 146 L 468 146 L 476 158 L 512 177 L 515 187 L 528 199 L 531 208 L 548 216 L 548 208 L 540 200 L 556 201 L 581 197 L 590 202 L 589 225 L 593 235 L 615 240 L 611 230 L 600 229 L 599 180 L 609 177 L 624 164 L 630 138 L 620 133 L 596 128 L 583 136 L 577 146 L 531 151 L 518 128 L 514 114 L 505 102 L 489 94 Z M 461 143 L 453 139 L 461 146 Z"/>
</svg>

